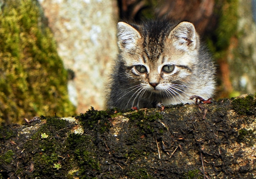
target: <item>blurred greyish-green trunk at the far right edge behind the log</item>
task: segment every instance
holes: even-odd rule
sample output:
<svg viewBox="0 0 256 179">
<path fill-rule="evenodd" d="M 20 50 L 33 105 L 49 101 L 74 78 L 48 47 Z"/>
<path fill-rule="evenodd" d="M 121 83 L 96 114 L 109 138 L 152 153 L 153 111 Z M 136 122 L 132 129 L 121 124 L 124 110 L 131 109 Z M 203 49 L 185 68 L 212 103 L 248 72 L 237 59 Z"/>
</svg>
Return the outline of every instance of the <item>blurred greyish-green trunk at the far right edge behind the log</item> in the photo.
<svg viewBox="0 0 256 179">
<path fill-rule="evenodd" d="M 237 35 L 231 39 L 227 56 L 233 90 L 256 92 L 256 22 L 251 0 L 238 0 Z M 256 8 L 256 7 L 255 7 Z"/>
</svg>

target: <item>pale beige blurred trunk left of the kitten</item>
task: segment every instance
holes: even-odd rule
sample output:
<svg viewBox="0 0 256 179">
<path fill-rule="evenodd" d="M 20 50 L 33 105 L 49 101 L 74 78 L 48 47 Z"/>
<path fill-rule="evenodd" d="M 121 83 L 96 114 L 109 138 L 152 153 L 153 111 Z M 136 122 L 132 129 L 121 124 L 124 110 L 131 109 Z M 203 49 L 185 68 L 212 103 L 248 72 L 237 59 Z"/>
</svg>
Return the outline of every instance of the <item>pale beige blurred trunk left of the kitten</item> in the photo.
<svg viewBox="0 0 256 179">
<path fill-rule="evenodd" d="M 115 0 L 39 0 L 64 66 L 74 73 L 69 97 L 77 112 L 103 109 L 104 83 L 117 53 Z"/>
</svg>

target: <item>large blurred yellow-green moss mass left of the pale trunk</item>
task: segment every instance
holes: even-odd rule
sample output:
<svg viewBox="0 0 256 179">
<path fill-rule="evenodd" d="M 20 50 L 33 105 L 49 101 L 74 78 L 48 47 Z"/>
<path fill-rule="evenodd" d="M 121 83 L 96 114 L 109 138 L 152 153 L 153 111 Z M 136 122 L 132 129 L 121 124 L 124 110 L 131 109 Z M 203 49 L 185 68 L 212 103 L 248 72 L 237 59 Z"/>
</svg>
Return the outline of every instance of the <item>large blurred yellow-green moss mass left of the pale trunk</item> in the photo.
<svg viewBox="0 0 256 179">
<path fill-rule="evenodd" d="M 36 0 L 6 0 L 0 11 L 0 123 L 70 116 L 67 72 Z"/>
</svg>

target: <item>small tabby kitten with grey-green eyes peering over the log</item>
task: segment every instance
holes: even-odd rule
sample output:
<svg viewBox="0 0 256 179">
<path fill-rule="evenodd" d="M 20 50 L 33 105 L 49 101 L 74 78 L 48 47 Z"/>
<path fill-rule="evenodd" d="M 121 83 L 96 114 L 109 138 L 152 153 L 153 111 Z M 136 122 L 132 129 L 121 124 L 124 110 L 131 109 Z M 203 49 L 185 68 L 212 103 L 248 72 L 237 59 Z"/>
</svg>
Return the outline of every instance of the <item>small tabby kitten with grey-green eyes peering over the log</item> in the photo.
<svg viewBox="0 0 256 179">
<path fill-rule="evenodd" d="M 152 108 L 192 103 L 215 90 L 215 65 L 190 22 L 119 22 L 119 56 L 113 66 L 106 107 Z"/>
</svg>

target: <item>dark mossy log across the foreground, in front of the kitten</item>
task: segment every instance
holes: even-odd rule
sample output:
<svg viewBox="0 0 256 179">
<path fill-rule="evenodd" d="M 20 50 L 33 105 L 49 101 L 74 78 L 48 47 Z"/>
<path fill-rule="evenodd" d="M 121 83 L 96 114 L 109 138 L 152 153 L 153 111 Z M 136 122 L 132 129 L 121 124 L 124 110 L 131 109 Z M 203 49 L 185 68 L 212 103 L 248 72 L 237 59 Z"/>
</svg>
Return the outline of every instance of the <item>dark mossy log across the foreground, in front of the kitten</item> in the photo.
<svg viewBox="0 0 256 179">
<path fill-rule="evenodd" d="M 0 128 L 0 178 L 252 179 L 256 95 Z"/>
</svg>

